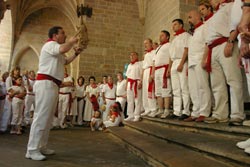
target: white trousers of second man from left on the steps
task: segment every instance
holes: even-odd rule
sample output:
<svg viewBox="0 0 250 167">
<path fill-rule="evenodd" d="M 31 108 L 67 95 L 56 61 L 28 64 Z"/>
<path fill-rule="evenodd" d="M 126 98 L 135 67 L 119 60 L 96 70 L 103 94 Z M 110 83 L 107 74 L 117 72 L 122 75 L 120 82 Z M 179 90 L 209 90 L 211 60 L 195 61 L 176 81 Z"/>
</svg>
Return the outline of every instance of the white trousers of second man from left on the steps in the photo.
<svg viewBox="0 0 250 167">
<path fill-rule="evenodd" d="M 152 93 L 152 98 L 148 97 L 149 75 L 150 75 L 150 68 L 147 68 L 143 72 L 143 82 L 142 82 L 142 105 L 145 112 L 155 111 L 157 109 L 154 90 Z"/>
</svg>

